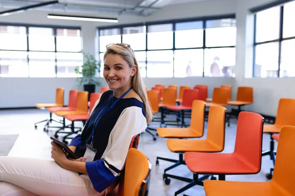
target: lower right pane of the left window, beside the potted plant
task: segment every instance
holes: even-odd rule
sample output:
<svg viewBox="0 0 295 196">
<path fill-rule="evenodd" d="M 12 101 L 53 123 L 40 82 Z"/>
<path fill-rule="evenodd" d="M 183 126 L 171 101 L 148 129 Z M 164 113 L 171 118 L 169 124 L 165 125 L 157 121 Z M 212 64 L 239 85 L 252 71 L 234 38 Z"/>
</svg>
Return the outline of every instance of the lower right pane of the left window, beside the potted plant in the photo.
<svg viewBox="0 0 295 196">
<path fill-rule="evenodd" d="M 82 53 L 57 52 L 57 77 L 77 77 L 75 68 L 82 65 Z"/>
</svg>

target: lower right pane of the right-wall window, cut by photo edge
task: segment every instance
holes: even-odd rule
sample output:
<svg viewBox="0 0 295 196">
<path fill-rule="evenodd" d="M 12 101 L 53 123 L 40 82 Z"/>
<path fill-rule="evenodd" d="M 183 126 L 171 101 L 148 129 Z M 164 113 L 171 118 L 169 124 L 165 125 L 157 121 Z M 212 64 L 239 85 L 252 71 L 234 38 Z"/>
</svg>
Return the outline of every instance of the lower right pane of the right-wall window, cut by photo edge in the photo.
<svg viewBox="0 0 295 196">
<path fill-rule="evenodd" d="M 282 41 L 280 77 L 295 77 L 295 39 Z"/>
</svg>

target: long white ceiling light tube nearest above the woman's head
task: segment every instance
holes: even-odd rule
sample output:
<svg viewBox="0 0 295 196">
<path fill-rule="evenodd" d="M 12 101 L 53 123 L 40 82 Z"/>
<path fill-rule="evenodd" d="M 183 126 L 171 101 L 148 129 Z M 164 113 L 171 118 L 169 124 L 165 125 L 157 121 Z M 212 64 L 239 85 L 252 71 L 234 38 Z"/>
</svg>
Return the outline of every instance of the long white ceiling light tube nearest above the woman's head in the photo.
<svg viewBox="0 0 295 196">
<path fill-rule="evenodd" d="M 105 23 L 118 23 L 116 18 L 102 18 L 102 17 L 89 17 L 89 16 L 73 16 L 73 15 L 59 15 L 48 14 L 49 19 L 61 19 L 61 20 L 74 20 L 74 21 L 93 21 L 93 22 L 105 22 Z"/>
</svg>

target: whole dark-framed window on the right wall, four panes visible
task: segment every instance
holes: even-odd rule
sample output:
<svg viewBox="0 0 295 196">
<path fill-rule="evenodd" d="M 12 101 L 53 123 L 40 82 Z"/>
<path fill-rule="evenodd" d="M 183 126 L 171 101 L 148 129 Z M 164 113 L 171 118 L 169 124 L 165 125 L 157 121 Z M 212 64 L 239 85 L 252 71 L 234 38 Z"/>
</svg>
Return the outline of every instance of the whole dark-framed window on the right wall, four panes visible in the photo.
<svg viewBox="0 0 295 196">
<path fill-rule="evenodd" d="M 255 14 L 254 77 L 295 77 L 294 9 L 295 1 Z"/>
</svg>

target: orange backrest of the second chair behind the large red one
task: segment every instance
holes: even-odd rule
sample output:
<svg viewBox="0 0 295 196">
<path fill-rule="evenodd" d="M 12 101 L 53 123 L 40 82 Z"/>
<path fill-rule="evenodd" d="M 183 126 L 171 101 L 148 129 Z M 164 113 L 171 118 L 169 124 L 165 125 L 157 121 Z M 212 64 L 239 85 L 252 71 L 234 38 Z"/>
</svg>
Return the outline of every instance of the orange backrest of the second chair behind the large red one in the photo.
<svg viewBox="0 0 295 196">
<path fill-rule="evenodd" d="M 190 123 L 190 129 L 195 133 L 202 133 L 202 135 L 204 134 L 205 104 L 205 101 L 193 101 Z"/>
</svg>

